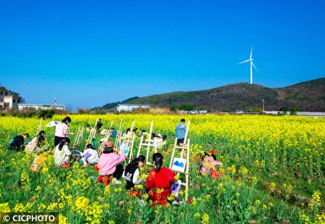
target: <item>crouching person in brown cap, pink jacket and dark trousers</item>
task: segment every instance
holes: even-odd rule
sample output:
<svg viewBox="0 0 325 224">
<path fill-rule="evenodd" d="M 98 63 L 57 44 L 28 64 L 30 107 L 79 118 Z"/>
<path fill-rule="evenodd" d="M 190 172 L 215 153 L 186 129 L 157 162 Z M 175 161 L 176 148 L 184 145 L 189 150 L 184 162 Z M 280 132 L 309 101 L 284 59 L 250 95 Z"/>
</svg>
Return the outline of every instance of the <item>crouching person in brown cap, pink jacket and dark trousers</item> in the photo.
<svg viewBox="0 0 325 224">
<path fill-rule="evenodd" d="M 114 153 L 114 144 L 111 141 L 105 142 L 103 154 L 97 164 L 100 171 L 97 182 L 103 181 L 105 184 L 108 184 L 110 177 L 113 176 L 113 183 L 121 183 L 118 179 L 122 176 L 123 165 L 118 163 L 124 162 L 126 155 L 124 150 L 121 150 L 120 153 L 120 155 Z"/>
</svg>

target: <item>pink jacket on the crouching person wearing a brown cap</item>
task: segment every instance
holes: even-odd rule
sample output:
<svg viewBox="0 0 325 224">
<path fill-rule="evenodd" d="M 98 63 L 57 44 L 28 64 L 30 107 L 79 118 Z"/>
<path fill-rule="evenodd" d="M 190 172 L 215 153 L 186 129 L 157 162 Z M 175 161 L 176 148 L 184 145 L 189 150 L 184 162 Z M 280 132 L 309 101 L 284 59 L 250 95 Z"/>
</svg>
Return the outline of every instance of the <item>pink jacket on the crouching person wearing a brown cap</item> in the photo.
<svg viewBox="0 0 325 224">
<path fill-rule="evenodd" d="M 98 168 L 100 170 L 100 175 L 110 175 L 113 174 L 116 170 L 116 165 L 120 162 L 123 162 L 126 158 L 124 152 L 121 155 L 115 153 L 102 154 L 98 160 Z"/>
</svg>

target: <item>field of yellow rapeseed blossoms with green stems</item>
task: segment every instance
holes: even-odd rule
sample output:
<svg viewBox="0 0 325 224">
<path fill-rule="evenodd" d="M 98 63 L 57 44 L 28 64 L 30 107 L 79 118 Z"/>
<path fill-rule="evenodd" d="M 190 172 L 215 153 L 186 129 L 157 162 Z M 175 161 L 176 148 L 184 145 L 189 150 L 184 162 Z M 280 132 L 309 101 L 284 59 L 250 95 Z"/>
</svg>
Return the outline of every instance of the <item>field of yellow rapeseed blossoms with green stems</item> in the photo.
<svg viewBox="0 0 325 224">
<path fill-rule="evenodd" d="M 298 116 L 71 115 L 70 132 L 94 125 L 135 128 L 166 134 L 161 152 L 168 167 L 175 126 L 190 120 L 188 203 L 152 208 L 148 197 L 130 198 L 124 184 L 95 184 L 93 166 L 55 168 L 52 155 L 42 169 L 29 167 L 34 155 L 8 151 L 11 137 L 36 135 L 39 118 L 0 117 L 0 212 L 59 212 L 59 223 L 325 223 L 325 119 Z M 63 116 L 43 120 L 61 121 Z M 43 128 L 53 152 L 54 127 Z M 103 136 L 96 136 L 98 140 Z M 71 136 L 72 143 L 74 136 Z M 84 133 L 84 141 L 87 133 Z M 114 142 L 114 139 L 112 139 Z M 140 139 L 135 141 L 135 152 Z M 81 148 L 84 147 L 84 142 Z M 215 150 L 223 176 L 200 175 L 195 160 Z M 144 177 L 152 167 L 141 169 Z M 182 179 L 182 175 L 179 176 Z M 137 186 L 145 188 L 145 183 Z M 184 198 L 181 189 L 180 199 Z M 170 197 L 173 197 L 171 195 Z M 172 199 L 172 198 L 171 198 Z"/>
</svg>

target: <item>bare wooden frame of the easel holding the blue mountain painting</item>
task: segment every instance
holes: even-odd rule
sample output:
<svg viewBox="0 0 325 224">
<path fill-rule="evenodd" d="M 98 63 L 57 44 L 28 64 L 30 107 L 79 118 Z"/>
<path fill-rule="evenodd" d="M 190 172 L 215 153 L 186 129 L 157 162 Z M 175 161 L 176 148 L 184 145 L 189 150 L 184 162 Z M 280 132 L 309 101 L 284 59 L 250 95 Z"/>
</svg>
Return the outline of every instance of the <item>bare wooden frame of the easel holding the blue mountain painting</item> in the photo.
<svg viewBox="0 0 325 224">
<path fill-rule="evenodd" d="M 181 159 L 186 159 L 185 171 L 184 172 L 176 171 L 176 172 L 177 172 L 178 175 L 179 175 L 179 173 L 184 173 L 185 174 L 185 183 L 181 182 L 181 185 L 185 186 L 185 201 L 187 200 L 187 196 L 188 196 L 189 145 L 190 145 L 190 140 L 187 139 L 187 134 L 188 134 L 189 124 L 190 124 L 190 122 L 188 121 L 187 122 L 187 127 L 186 127 L 186 132 L 185 132 L 185 137 L 184 137 L 184 143 L 180 143 L 180 145 L 177 145 L 177 138 L 175 138 L 172 157 L 171 157 L 171 161 L 169 163 L 169 168 L 171 170 L 173 170 L 172 167 L 173 167 L 173 162 L 174 162 L 174 158 L 175 158 L 175 151 L 176 150 L 182 150 L 180 158 Z M 186 142 L 186 140 L 187 140 L 187 142 Z M 184 155 L 185 150 L 186 150 L 186 155 Z"/>
</svg>

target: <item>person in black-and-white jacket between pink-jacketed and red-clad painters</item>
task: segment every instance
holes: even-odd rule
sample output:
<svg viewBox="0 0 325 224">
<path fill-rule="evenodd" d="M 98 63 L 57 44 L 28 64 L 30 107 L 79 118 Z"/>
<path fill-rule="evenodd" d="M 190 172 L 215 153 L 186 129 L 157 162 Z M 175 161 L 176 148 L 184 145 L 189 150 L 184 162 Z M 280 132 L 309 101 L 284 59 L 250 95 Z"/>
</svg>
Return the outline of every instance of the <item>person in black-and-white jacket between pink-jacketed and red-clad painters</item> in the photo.
<svg viewBox="0 0 325 224">
<path fill-rule="evenodd" d="M 141 191 L 133 191 L 135 184 L 141 183 L 142 179 L 140 177 L 140 168 L 143 167 L 144 161 L 146 160 L 145 156 L 138 156 L 133 159 L 131 163 L 127 164 L 123 172 L 122 177 L 126 180 L 125 189 L 131 190 L 130 196 L 138 195 L 141 196 Z"/>
</svg>

